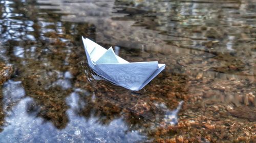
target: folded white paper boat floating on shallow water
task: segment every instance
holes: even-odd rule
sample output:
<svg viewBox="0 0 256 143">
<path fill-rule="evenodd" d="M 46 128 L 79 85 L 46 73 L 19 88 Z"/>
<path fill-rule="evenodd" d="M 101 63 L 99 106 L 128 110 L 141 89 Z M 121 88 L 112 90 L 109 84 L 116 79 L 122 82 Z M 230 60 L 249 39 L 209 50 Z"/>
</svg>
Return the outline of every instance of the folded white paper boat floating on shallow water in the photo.
<svg viewBox="0 0 256 143">
<path fill-rule="evenodd" d="M 157 61 L 129 63 L 116 55 L 112 47 L 106 50 L 88 38 L 82 37 L 82 41 L 88 64 L 93 71 L 129 90 L 141 90 L 165 67 L 165 64 L 158 64 Z"/>
</svg>

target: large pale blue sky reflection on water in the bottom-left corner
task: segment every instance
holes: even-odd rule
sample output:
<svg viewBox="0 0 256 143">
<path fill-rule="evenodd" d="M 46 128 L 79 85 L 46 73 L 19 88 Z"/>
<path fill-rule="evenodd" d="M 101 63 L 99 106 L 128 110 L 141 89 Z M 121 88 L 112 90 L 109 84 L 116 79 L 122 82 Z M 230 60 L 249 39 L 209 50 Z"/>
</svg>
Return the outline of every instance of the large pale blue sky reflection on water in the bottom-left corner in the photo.
<svg viewBox="0 0 256 143">
<path fill-rule="evenodd" d="M 129 127 L 121 118 L 114 119 L 108 125 L 101 125 L 97 118 L 88 120 L 76 115 L 75 110 L 79 97 L 71 94 L 68 97 L 67 110 L 69 124 L 63 130 L 58 130 L 50 122 L 36 118 L 30 105 L 35 104 L 30 97 L 24 98 L 8 117 L 7 126 L 0 134 L 1 142 L 137 142 L 144 138 L 138 131 L 127 131 Z M 75 104 L 75 105 L 74 105 Z M 113 136 L 115 135 L 115 136 Z M 14 137 L 15 136 L 15 137 Z"/>
</svg>

